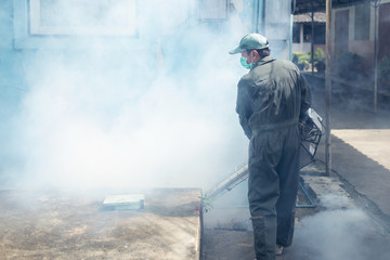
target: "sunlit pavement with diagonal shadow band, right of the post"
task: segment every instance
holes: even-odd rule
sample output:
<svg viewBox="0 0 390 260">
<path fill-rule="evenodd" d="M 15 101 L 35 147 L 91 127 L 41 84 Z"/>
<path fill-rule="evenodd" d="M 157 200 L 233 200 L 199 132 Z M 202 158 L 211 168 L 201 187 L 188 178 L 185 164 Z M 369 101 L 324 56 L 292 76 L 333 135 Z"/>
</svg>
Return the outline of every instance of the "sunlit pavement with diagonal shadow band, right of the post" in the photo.
<svg viewBox="0 0 390 260">
<path fill-rule="evenodd" d="M 390 216 L 390 129 L 333 130 L 333 168 Z"/>
</svg>

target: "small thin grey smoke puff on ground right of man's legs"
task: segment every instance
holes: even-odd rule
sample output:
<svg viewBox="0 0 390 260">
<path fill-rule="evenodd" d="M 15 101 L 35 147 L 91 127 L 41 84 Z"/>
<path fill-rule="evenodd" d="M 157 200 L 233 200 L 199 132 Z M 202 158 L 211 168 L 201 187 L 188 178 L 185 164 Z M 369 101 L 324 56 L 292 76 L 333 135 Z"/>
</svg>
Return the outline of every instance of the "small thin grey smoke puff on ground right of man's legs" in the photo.
<svg viewBox="0 0 390 260">
<path fill-rule="evenodd" d="M 321 202 L 327 210 L 304 217 L 297 227 L 294 247 L 304 252 L 300 259 L 386 259 L 380 227 L 362 209 L 344 196 L 330 194 Z"/>
</svg>

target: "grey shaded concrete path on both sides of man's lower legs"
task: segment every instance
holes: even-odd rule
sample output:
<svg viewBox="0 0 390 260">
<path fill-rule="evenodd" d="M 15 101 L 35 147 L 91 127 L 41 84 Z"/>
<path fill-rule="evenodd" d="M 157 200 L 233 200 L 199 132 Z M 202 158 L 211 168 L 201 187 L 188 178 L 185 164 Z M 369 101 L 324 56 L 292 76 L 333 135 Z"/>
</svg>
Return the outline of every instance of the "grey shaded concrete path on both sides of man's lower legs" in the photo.
<svg viewBox="0 0 390 260">
<path fill-rule="evenodd" d="M 389 231 L 372 205 L 348 192 L 335 172 L 326 177 L 322 161 L 301 172 L 303 186 L 315 208 L 297 207 L 291 247 L 276 260 L 386 260 Z M 310 206 L 302 190 L 297 205 Z M 252 231 L 248 208 L 217 208 L 204 216 L 203 260 L 252 260 Z"/>
</svg>

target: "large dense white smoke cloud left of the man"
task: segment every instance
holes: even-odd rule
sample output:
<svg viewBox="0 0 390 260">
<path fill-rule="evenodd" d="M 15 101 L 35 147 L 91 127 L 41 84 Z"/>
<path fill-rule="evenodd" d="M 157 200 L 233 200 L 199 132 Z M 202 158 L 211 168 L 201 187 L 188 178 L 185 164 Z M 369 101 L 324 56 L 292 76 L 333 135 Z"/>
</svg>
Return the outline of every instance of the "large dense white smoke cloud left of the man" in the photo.
<svg viewBox="0 0 390 260">
<path fill-rule="evenodd" d="M 2 174 L 10 183 L 207 187 L 245 160 L 234 112 L 245 70 L 227 54 L 239 41 L 231 36 L 245 32 L 192 25 L 190 1 L 138 10 L 136 49 L 84 36 L 21 55 L 26 89 L 5 144 L 16 164 Z M 123 15 L 117 5 L 105 13 L 115 12 Z M 68 20 L 91 23 L 75 15 Z"/>
</svg>

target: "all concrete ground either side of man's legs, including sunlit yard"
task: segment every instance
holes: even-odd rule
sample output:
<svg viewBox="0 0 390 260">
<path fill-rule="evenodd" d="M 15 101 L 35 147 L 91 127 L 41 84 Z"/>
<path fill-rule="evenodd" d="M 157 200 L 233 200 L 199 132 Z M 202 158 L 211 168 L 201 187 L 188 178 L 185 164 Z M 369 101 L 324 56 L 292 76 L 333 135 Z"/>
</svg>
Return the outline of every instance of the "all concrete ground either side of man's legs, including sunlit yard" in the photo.
<svg viewBox="0 0 390 260">
<path fill-rule="evenodd" d="M 324 82 L 308 79 L 313 107 L 325 118 Z M 323 139 L 316 164 L 301 172 L 317 206 L 297 208 L 294 244 L 277 259 L 389 259 L 390 102 L 379 96 L 375 112 L 369 91 L 333 87 L 332 176 L 325 174 Z M 216 216 L 204 217 L 203 259 L 255 259 L 248 209 Z"/>
</svg>

